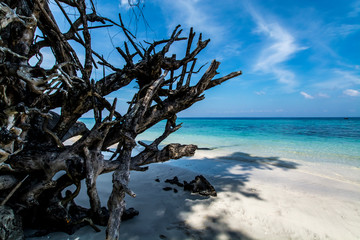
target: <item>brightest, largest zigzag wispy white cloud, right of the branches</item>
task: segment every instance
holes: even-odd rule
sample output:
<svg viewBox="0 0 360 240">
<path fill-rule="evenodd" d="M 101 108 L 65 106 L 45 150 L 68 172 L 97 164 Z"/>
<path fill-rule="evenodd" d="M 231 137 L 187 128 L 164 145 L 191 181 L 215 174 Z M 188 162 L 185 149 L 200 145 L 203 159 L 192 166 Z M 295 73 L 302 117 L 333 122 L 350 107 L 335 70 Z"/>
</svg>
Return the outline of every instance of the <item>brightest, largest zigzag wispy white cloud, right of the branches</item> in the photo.
<svg viewBox="0 0 360 240">
<path fill-rule="evenodd" d="M 298 46 L 294 36 L 276 20 L 265 19 L 252 6 L 249 6 L 249 12 L 257 25 L 255 32 L 267 37 L 255 63 L 255 71 L 274 74 L 279 83 L 284 84 L 287 90 L 293 91 L 298 82 L 295 74 L 286 69 L 284 64 L 296 52 L 305 48 Z"/>
</svg>

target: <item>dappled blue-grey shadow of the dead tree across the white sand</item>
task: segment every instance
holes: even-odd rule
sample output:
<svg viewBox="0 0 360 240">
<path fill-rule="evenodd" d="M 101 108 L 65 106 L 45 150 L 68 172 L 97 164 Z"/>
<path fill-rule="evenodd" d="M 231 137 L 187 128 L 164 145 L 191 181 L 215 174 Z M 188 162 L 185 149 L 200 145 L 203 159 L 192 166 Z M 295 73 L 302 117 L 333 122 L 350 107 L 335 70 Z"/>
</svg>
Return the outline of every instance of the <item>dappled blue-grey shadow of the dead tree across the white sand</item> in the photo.
<svg viewBox="0 0 360 240">
<path fill-rule="evenodd" d="M 213 150 L 201 150 L 209 152 Z M 247 186 L 255 170 L 272 171 L 296 169 L 298 163 L 278 157 L 259 157 L 235 152 L 214 158 L 183 158 L 165 164 L 152 164 L 147 172 L 132 172 L 130 188 L 137 193 L 135 199 L 126 199 L 128 207 L 139 210 L 139 216 L 123 222 L 120 239 L 253 239 L 247 229 L 247 209 L 244 199 L 266 201 L 261 189 Z M 190 181 L 203 174 L 215 187 L 218 197 L 204 197 L 183 191 L 166 183 L 177 176 L 180 181 Z M 106 203 L 111 188 L 109 176 L 100 179 L 99 193 Z M 160 179 L 160 181 L 155 181 Z M 176 188 L 164 191 L 164 187 Z M 225 199 L 225 200 L 224 200 Z M 235 206 L 236 205 L 236 206 Z M 95 233 L 86 226 L 74 235 L 57 233 L 54 239 L 91 240 L 104 239 L 105 228 Z M 61 238 L 62 237 L 62 238 Z"/>
</svg>

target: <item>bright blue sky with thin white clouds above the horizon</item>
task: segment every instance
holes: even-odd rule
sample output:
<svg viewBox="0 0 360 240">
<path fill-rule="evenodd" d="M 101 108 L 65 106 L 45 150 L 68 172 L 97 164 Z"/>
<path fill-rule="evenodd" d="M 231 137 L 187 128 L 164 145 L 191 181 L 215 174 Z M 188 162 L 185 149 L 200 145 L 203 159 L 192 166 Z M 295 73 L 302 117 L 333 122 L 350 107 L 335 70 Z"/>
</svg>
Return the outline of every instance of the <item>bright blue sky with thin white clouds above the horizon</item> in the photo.
<svg viewBox="0 0 360 240">
<path fill-rule="evenodd" d="M 140 41 L 168 38 L 178 24 L 187 36 L 193 27 L 211 39 L 199 65 L 220 61 L 219 76 L 242 70 L 180 117 L 360 117 L 360 0 L 146 0 L 138 21 L 128 0 L 94 2 L 102 16 L 118 21 L 121 13 Z M 121 67 L 120 32 L 92 34 L 94 48 Z M 181 56 L 185 45 L 171 51 Z M 135 91 L 108 99 L 125 109 Z"/>
</svg>

